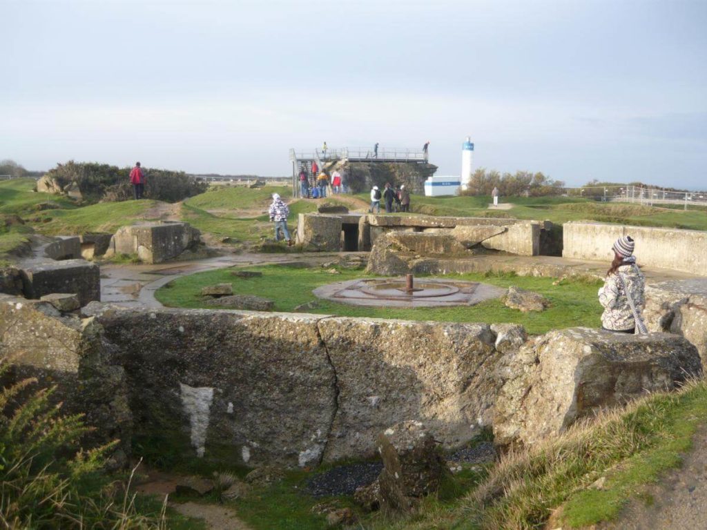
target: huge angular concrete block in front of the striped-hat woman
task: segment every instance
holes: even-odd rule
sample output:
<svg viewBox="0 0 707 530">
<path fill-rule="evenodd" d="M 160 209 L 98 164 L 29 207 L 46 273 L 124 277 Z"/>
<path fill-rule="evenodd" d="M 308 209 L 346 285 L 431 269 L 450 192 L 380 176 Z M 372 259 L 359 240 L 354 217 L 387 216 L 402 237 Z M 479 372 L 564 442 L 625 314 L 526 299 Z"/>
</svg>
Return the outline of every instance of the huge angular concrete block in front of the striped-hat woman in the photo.
<svg viewBox="0 0 707 530">
<path fill-rule="evenodd" d="M 575 420 L 702 373 L 696 348 L 681 336 L 589 328 L 550 331 L 527 342 L 506 366 L 493 415 L 501 446 L 537 444 Z"/>
</svg>

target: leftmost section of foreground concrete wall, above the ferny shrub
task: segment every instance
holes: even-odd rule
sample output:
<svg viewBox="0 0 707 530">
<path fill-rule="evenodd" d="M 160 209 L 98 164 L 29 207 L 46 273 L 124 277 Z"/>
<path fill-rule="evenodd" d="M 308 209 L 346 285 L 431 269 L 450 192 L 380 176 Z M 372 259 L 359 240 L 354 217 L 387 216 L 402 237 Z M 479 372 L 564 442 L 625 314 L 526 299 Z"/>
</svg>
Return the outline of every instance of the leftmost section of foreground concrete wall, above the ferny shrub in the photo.
<svg viewBox="0 0 707 530">
<path fill-rule="evenodd" d="M 6 382 L 36 377 L 39 387 L 57 387 L 52 401 L 63 402 L 62 411 L 86 413 L 86 423 L 96 428 L 89 440 L 120 440 L 115 464 L 124 463 L 132 437 L 124 370 L 111 364 L 110 345 L 94 319 L 0 295 L 0 358 L 13 367 Z"/>
</svg>

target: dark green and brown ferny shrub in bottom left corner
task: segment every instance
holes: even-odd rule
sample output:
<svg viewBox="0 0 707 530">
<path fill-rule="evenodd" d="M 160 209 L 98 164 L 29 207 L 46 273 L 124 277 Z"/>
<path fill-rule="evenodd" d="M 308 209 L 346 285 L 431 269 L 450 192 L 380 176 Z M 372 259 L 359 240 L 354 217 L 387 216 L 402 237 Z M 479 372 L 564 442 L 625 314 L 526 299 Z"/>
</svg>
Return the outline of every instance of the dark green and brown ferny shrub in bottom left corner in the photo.
<svg viewBox="0 0 707 530">
<path fill-rule="evenodd" d="M 0 378 L 9 365 L 0 362 Z M 23 379 L 0 390 L 0 522 L 6 529 L 187 529 L 199 528 L 139 500 L 112 480 L 105 455 L 115 442 L 82 449 L 90 431 L 80 415 L 64 416 L 50 403 L 52 389 L 33 390 Z"/>
</svg>

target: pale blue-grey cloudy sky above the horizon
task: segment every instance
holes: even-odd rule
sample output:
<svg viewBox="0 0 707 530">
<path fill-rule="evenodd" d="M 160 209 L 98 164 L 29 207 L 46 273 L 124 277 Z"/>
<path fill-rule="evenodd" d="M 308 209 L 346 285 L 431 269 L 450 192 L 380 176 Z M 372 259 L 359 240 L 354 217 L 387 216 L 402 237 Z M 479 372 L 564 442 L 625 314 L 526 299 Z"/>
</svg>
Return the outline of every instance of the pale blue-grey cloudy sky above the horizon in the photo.
<svg viewBox="0 0 707 530">
<path fill-rule="evenodd" d="M 707 1 L 0 0 L 0 159 L 286 175 L 288 149 L 707 187 Z"/>
</svg>

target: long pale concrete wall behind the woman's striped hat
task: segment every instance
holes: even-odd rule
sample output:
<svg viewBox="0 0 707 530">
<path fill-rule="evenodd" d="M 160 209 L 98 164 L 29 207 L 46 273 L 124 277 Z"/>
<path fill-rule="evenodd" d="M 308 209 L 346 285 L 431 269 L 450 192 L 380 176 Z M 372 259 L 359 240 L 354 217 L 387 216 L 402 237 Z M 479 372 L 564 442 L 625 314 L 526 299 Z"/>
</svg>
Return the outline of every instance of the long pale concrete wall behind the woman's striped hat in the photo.
<svg viewBox="0 0 707 530">
<path fill-rule="evenodd" d="M 565 223 L 562 255 L 608 263 L 614 257 L 614 241 L 623 235 L 636 240 L 638 264 L 707 276 L 707 232 L 702 230 Z"/>
</svg>

